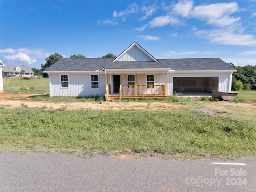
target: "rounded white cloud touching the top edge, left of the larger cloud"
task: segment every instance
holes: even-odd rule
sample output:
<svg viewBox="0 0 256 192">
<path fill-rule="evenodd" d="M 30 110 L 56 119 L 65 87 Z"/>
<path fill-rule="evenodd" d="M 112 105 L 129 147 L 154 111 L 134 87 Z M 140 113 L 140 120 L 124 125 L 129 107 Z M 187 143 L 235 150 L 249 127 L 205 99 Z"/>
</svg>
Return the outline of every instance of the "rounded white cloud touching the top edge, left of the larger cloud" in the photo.
<svg viewBox="0 0 256 192">
<path fill-rule="evenodd" d="M 188 16 L 193 7 L 193 1 L 180 1 L 174 5 L 172 12 L 182 17 Z"/>
</svg>

